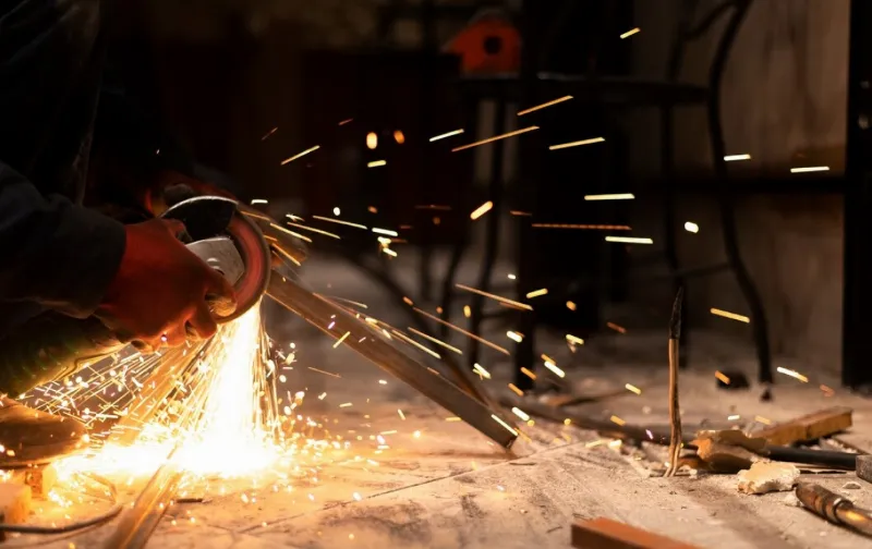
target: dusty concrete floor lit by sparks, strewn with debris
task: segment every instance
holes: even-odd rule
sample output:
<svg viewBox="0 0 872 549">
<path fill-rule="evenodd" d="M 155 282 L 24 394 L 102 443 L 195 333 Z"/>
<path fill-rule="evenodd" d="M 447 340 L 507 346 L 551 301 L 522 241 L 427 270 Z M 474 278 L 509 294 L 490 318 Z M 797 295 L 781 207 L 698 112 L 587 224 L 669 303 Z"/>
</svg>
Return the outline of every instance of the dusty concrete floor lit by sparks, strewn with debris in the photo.
<svg viewBox="0 0 872 549">
<path fill-rule="evenodd" d="M 386 297 L 360 282 L 350 268 L 327 265 L 323 269 L 312 269 L 307 277 L 319 290 L 366 302 L 372 306 L 371 314 L 395 326 L 409 326 L 402 324 L 408 322 L 403 313 L 388 306 Z M 223 490 L 190 487 L 189 496 L 205 496 L 204 501 L 173 505 L 149 547 L 569 547 L 573 520 L 596 516 L 701 548 L 872 547 L 864 538 L 789 504 L 785 493 L 738 493 L 734 476 L 645 477 L 634 457 L 619 448 L 592 444 L 600 437 L 573 426 L 537 420 L 524 428 L 529 439 L 519 440 L 512 452 L 506 453 L 464 424 L 447 420 L 451 414 L 347 349 L 332 349 L 332 342 L 314 330 L 299 322 L 278 322 L 274 335 L 293 338 L 298 344 L 299 366 L 289 374 L 288 387 L 327 393 L 323 400 L 307 400 L 303 412 L 330 422 L 334 432 L 344 431 L 347 439 L 361 436 L 363 440 L 355 440 L 342 459 L 295 457 L 295 465 L 314 474 L 294 475 L 293 466 L 288 465 L 288 471 L 223 483 Z M 486 335 L 510 344 L 505 327 L 493 326 Z M 844 440 L 872 451 L 872 401 L 838 390 L 827 396 L 819 385 L 837 387 L 836 380 L 813 375 L 809 383 L 780 376 L 771 402 L 760 400 L 760 387 L 747 391 L 716 389 L 716 369 L 752 371 L 751 349 L 716 333 L 694 335 L 689 353 L 692 366 L 681 381 L 686 423 L 723 423 L 732 415 L 741 416 L 734 419 L 740 424 L 754 416 L 783 420 L 838 403 L 855 408 L 855 428 Z M 459 339 L 451 342 L 462 343 Z M 627 391 L 573 411 L 666 424 L 667 371 L 662 358 L 666 342 L 662 330 L 602 335 L 574 354 L 562 333 L 543 332 L 540 347 L 567 370 L 579 393 L 607 393 L 628 382 L 642 389 L 641 394 Z M 493 374 L 492 380 L 482 382 L 495 394 L 508 391 L 507 361 L 486 353 L 482 364 Z M 777 365 L 802 371 L 796 361 L 779 361 Z M 353 405 L 339 407 L 342 403 Z M 385 434 L 390 448 L 378 450 L 379 442 L 370 440 L 370 436 L 379 434 Z M 289 474 L 290 478 L 281 478 Z M 859 490 L 841 490 L 845 483 L 855 479 L 853 474 L 807 473 L 803 477 L 843 491 L 860 505 L 872 507 L 872 485 L 860 481 Z M 128 498 L 135 495 L 135 488 L 126 490 Z M 110 528 L 57 539 L 47 547 L 104 547 Z M 23 537 L 8 545 L 37 541 Z"/>
</svg>

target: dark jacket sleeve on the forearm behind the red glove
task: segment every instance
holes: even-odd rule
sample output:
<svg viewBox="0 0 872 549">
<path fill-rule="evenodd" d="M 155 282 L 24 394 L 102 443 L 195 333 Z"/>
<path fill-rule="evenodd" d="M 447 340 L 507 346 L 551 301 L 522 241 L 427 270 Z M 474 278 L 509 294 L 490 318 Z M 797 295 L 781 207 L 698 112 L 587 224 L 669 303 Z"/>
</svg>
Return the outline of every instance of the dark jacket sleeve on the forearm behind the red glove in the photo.
<svg viewBox="0 0 872 549">
<path fill-rule="evenodd" d="M 31 301 L 87 317 L 118 271 L 124 245 L 124 225 L 63 196 L 43 196 L 0 162 L 0 302 Z"/>
</svg>

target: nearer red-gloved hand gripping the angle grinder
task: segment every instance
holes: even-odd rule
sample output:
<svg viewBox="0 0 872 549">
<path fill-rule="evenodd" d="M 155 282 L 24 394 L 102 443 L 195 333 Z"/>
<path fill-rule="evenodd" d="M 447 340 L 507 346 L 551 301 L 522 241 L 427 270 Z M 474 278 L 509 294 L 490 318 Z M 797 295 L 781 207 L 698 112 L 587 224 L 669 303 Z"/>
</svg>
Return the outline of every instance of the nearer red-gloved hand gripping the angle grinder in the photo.
<svg viewBox="0 0 872 549">
<path fill-rule="evenodd" d="M 122 341 L 177 346 L 218 329 L 207 298 L 234 303 L 233 288 L 177 236 L 184 224 L 153 219 L 125 227 L 126 248 L 97 316 Z"/>
</svg>

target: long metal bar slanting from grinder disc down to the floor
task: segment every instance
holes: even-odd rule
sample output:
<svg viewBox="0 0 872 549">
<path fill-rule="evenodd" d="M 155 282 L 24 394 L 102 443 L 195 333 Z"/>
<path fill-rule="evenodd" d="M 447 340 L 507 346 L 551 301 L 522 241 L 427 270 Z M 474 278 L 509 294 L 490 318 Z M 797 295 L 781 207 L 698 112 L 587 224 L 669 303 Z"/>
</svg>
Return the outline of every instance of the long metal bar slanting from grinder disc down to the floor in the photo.
<svg viewBox="0 0 872 549">
<path fill-rule="evenodd" d="M 463 392 L 435 369 L 422 366 L 395 349 L 365 322 L 317 297 L 294 281 L 272 277 L 267 295 L 332 338 L 343 338 L 343 343 L 353 351 L 416 389 L 502 448 L 511 448 L 518 438 L 518 432 L 510 427 L 511 420 Z"/>
</svg>

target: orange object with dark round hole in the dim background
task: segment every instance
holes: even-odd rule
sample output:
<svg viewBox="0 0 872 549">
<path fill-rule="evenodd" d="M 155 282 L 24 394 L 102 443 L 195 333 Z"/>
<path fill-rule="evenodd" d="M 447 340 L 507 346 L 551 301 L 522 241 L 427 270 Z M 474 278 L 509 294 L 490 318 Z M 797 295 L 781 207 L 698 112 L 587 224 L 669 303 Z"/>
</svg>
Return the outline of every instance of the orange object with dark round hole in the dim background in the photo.
<svg viewBox="0 0 872 549">
<path fill-rule="evenodd" d="M 460 56 L 461 71 L 465 74 L 511 73 L 521 66 L 521 34 L 502 16 L 474 21 L 446 50 Z"/>
</svg>

